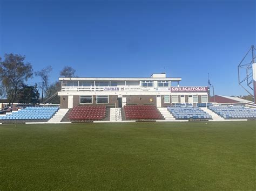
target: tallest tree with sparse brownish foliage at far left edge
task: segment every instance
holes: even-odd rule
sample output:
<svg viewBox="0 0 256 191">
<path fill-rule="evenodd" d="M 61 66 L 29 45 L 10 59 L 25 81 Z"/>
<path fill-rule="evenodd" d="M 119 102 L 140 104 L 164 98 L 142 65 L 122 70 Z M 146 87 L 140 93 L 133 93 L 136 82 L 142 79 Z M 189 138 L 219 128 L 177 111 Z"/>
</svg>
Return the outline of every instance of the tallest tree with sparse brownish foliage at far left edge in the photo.
<svg viewBox="0 0 256 191">
<path fill-rule="evenodd" d="M 19 89 L 32 76 L 32 66 L 29 62 L 25 63 L 25 56 L 12 53 L 4 55 L 4 61 L 0 60 L 0 81 L 9 104 L 16 101 Z"/>
</svg>

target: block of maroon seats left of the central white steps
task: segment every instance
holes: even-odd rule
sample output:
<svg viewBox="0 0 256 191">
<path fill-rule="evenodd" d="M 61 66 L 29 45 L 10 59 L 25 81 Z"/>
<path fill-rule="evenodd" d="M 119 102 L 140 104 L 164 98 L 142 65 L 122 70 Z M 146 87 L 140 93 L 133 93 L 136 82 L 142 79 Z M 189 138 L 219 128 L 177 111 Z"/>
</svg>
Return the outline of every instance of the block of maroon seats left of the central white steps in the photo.
<svg viewBox="0 0 256 191">
<path fill-rule="evenodd" d="M 69 118 L 71 120 L 101 120 L 105 118 L 105 115 L 105 105 L 80 105 L 71 110 Z"/>
</svg>

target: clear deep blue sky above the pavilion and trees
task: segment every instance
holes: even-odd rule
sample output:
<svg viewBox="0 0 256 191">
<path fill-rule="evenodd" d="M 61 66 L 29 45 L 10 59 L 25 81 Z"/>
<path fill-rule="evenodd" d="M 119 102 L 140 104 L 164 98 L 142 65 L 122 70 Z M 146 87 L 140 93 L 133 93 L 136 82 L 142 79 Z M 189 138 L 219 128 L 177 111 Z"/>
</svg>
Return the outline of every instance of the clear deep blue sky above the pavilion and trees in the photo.
<svg viewBox="0 0 256 191">
<path fill-rule="evenodd" d="M 206 86 L 210 73 L 215 94 L 246 95 L 237 65 L 256 44 L 255 1 L 0 2 L 0 56 L 51 65 L 52 82 L 67 65 L 80 77 L 166 72 L 181 86 Z"/>
</svg>

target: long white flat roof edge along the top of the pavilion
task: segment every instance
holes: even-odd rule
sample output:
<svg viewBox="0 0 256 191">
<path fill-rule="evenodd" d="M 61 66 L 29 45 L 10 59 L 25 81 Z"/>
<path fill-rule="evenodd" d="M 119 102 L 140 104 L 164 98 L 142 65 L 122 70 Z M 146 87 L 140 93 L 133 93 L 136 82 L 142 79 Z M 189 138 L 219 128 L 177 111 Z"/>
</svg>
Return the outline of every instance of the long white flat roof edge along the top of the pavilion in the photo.
<svg viewBox="0 0 256 191">
<path fill-rule="evenodd" d="M 181 81 L 181 77 L 59 77 L 59 80 L 112 80 L 112 81 L 140 81 L 140 80 L 169 80 Z"/>
</svg>

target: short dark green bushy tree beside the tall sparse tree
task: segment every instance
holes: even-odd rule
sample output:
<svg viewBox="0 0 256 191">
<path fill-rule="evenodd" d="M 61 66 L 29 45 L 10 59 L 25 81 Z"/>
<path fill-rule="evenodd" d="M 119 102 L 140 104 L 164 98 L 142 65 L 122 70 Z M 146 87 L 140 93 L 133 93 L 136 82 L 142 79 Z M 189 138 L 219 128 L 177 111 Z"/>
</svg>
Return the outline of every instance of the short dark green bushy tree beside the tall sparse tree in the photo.
<svg viewBox="0 0 256 191">
<path fill-rule="evenodd" d="M 23 85 L 18 91 L 18 101 L 19 103 L 25 104 L 39 103 L 39 91 L 37 89 L 37 84 L 35 84 L 35 86 Z"/>
</svg>

